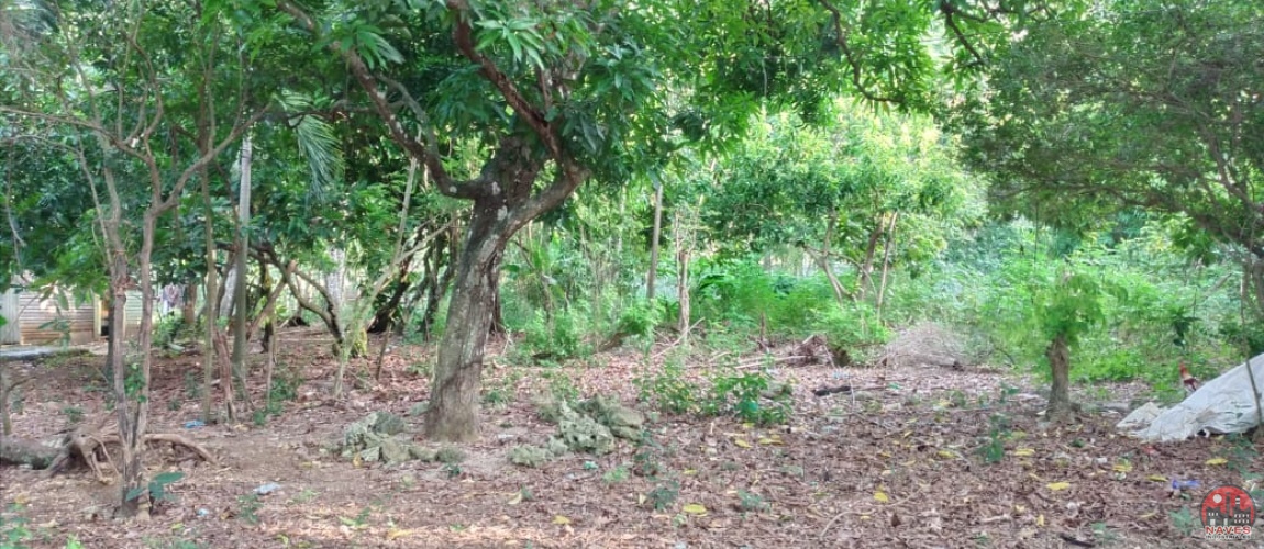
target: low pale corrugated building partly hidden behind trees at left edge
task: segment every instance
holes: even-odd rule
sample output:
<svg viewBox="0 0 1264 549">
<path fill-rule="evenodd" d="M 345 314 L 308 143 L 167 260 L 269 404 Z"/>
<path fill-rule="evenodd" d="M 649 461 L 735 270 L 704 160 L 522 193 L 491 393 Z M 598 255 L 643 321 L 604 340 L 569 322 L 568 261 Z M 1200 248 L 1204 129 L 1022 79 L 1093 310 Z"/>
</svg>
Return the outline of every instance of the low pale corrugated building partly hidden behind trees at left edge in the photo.
<svg viewBox="0 0 1264 549">
<path fill-rule="evenodd" d="M 128 292 L 126 333 L 140 329 L 140 292 Z M 105 334 L 109 302 L 91 297 L 63 298 L 34 288 L 10 288 L 0 294 L 0 345 L 90 343 Z"/>
</svg>

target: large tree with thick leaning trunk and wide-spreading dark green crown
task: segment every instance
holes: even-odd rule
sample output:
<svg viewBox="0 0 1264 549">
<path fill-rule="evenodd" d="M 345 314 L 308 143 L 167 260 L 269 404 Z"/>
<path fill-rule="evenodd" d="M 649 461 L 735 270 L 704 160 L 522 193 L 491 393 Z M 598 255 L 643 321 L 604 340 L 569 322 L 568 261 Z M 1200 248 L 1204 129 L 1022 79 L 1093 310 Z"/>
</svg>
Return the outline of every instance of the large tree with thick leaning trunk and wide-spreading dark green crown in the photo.
<svg viewBox="0 0 1264 549">
<path fill-rule="evenodd" d="M 761 97 L 806 111 L 837 92 L 925 106 L 937 74 L 927 32 L 944 21 L 951 53 L 961 53 L 945 66 L 963 74 L 995 35 L 969 43 L 963 29 L 996 30 L 995 19 L 1023 8 L 1001 4 L 283 0 L 282 15 L 248 8 L 257 37 L 279 40 L 274 29 L 293 24 L 335 53 L 391 139 L 441 193 L 473 203 L 426 416 L 431 437 L 470 440 L 499 263 L 514 232 L 589 178 L 623 183 L 664 162 L 681 138 L 723 143 Z M 453 151 L 470 146 L 482 160 L 461 170 Z"/>
</svg>

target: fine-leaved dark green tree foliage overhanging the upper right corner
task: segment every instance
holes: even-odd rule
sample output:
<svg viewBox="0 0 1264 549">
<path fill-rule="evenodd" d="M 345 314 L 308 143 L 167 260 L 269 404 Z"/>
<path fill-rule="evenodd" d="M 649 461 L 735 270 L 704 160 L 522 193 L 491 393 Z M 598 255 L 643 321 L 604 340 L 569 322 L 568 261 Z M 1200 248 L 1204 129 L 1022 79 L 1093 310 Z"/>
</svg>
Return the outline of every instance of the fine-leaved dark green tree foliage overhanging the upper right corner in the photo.
<svg viewBox="0 0 1264 549">
<path fill-rule="evenodd" d="M 1085 227 L 1140 207 L 1241 261 L 1264 319 L 1264 6 L 1096 3 L 1034 21 L 948 120 L 994 192 Z"/>
</svg>

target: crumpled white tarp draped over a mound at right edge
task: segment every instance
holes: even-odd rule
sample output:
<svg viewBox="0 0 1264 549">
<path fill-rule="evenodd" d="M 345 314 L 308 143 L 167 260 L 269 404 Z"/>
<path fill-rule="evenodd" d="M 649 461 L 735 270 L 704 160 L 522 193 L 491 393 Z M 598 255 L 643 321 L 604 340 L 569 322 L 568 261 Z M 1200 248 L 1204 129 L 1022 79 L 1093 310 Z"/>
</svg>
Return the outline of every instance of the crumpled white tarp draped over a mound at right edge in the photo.
<svg viewBox="0 0 1264 549">
<path fill-rule="evenodd" d="M 1197 391 L 1169 409 L 1153 403 L 1138 408 L 1116 425 L 1120 432 L 1146 440 L 1183 440 L 1206 429 L 1210 433 L 1241 433 L 1259 424 L 1256 406 L 1264 404 L 1251 394 L 1250 365 L 1255 384 L 1264 391 L 1264 355 L 1202 384 Z"/>
</svg>

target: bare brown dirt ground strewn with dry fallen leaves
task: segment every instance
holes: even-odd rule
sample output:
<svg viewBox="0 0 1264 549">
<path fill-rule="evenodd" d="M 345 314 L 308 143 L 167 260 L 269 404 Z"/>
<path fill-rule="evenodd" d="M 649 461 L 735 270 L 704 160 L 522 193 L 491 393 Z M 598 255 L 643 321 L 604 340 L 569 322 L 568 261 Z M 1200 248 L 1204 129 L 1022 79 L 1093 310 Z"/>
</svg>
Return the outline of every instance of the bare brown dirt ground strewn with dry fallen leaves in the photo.
<svg viewBox="0 0 1264 549">
<path fill-rule="evenodd" d="M 635 403 L 632 380 L 646 366 L 631 350 L 564 367 L 490 360 L 484 386 L 502 387 L 497 400 L 507 403 L 485 406 L 482 439 L 463 447 L 456 467 L 362 466 L 321 452 L 367 413 L 403 415 L 427 398 L 428 381 L 413 366 L 432 361 L 430 352 L 393 348 L 379 382 L 335 403 L 326 342 L 292 334 L 282 367 L 312 380 L 298 399 L 263 425 L 245 418 L 193 429 L 183 424 L 198 415 L 192 387 L 201 357 L 163 358 L 150 432 L 181 433 L 219 463 L 153 452 L 150 476 L 186 477 L 168 487 L 176 501 L 147 521 L 111 519 L 119 488 L 91 472 L 47 478 L 0 467 L 5 525 L 23 525 L 32 546 L 63 546 L 73 535 L 87 548 L 1222 546 L 1184 529 L 1201 531 L 1198 505 L 1210 486 L 1244 486 L 1261 471 L 1260 448 L 1241 440 L 1144 444 L 1114 434 L 1122 415 L 1100 406 L 1078 423 L 1050 424 L 1031 380 L 904 365 L 776 370 L 794 382 L 790 425 L 660 416 L 648 429 L 653 442 L 641 447 L 621 442 L 611 454 L 571 454 L 541 468 L 508 462 L 512 447 L 555 432 L 532 399 L 562 375 L 585 396 Z M 109 413 L 94 358 L 14 366 L 46 376 L 24 387 L 15 435 L 54 438 L 78 415 Z M 856 389 L 854 399 L 813 394 L 842 384 Z M 262 386 L 258 369 L 252 385 Z M 1127 405 L 1138 390 L 1097 386 L 1077 396 Z M 661 469 L 657 477 L 616 471 L 646 463 Z M 1173 478 L 1202 487 L 1173 495 Z M 252 495 L 265 483 L 279 488 Z M 656 510 L 653 501 L 672 491 Z M 1192 514 L 1181 519 L 1184 509 Z"/>
</svg>

